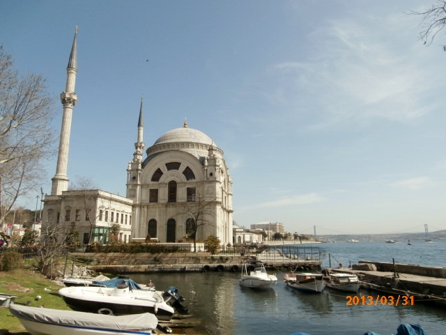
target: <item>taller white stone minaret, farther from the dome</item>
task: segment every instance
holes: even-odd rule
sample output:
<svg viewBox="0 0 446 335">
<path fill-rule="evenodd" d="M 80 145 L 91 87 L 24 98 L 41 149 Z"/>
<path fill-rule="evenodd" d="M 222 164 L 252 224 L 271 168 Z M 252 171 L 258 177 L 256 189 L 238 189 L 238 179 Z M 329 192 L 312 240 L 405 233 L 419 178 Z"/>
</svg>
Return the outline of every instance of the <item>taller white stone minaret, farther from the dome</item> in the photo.
<svg viewBox="0 0 446 335">
<path fill-rule="evenodd" d="M 52 179 L 51 195 L 61 195 L 63 191 L 68 190 L 68 149 L 70 149 L 70 132 L 72 109 L 77 103 L 77 94 L 75 94 L 76 74 L 77 74 L 77 27 L 75 38 L 72 41 L 70 60 L 67 67 L 67 83 L 65 91 L 61 94 L 63 105 L 61 139 L 59 142 L 59 154 L 57 156 L 56 174 Z"/>
</svg>

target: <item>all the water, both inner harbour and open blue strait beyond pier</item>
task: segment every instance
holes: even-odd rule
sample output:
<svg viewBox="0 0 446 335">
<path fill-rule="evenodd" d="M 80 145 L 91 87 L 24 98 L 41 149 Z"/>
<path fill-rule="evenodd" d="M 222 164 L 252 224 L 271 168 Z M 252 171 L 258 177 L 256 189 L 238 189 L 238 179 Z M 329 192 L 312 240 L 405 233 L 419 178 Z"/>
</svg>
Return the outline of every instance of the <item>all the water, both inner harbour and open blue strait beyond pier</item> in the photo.
<svg viewBox="0 0 446 335">
<path fill-rule="evenodd" d="M 358 260 L 376 260 L 446 267 L 446 243 L 413 241 L 385 244 L 360 242 L 320 244 L 332 255 L 332 265 L 348 265 Z M 334 260 L 335 259 L 335 260 Z M 273 272 L 273 271 L 269 271 Z M 191 312 L 201 318 L 203 334 L 213 335 L 362 335 L 372 330 L 381 335 L 395 334 L 401 323 L 422 325 L 429 335 L 446 334 L 446 308 L 424 304 L 415 306 L 346 306 L 346 295 L 326 290 L 321 295 L 305 294 L 286 287 L 283 273 L 274 290 L 255 292 L 238 285 L 240 274 L 134 274 L 132 279 L 146 283 L 151 279 L 158 290 L 178 287 Z M 363 295 L 376 295 L 362 291 Z"/>
</svg>

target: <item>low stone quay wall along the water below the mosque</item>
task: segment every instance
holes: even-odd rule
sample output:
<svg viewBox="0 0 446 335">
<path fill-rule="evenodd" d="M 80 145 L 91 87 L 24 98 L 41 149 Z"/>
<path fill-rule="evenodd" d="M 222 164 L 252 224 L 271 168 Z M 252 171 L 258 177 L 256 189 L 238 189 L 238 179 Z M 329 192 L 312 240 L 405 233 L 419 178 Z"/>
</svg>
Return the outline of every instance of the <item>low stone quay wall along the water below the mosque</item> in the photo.
<svg viewBox="0 0 446 335">
<path fill-rule="evenodd" d="M 89 269 L 109 274 L 151 272 L 241 271 L 244 262 L 256 255 L 210 255 L 210 253 L 70 253 L 72 260 L 88 264 Z M 320 269 L 316 260 L 276 258 L 262 260 L 266 268 Z"/>
</svg>

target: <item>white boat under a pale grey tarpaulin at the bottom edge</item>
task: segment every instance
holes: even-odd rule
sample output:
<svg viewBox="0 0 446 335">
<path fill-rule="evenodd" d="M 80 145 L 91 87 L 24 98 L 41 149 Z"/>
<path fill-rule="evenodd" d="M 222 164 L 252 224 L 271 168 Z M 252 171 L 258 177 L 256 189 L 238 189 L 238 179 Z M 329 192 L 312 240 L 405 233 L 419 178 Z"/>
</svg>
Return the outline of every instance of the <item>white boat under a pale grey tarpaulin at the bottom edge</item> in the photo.
<svg viewBox="0 0 446 335">
<path fill-rule="evenodd" d="M 10 304 L 9 311 L 31 335 L 150 335 L 158 323 L 151 313 L 98 315 L 20 304 Z"/>
</svg>

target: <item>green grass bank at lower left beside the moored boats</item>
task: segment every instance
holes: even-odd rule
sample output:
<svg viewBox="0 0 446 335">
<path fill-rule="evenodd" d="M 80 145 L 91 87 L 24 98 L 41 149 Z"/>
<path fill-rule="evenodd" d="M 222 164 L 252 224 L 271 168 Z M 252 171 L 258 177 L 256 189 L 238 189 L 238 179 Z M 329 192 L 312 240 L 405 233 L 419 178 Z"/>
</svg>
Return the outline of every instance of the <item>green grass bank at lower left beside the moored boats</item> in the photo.
<svg viewBox="0 0 446 335">
<path fill-rule="evenodd" d="M 47 288 L 47 290 L 45 290 Z M 61 286 L 29 269 L 0 271 L 0 292 L 17 295 L 16 304 L 29 306 L 44 306 L 46 308 L 66 309 L 63 299 L 57 294 Z M 40 295 L 42 299 L 36 300 Z M 11 334 L 28 334 L 19 319 L 12 315 L 8 308 L 0 306 L 0 329 L 8 329 Z"/>
</svg>

